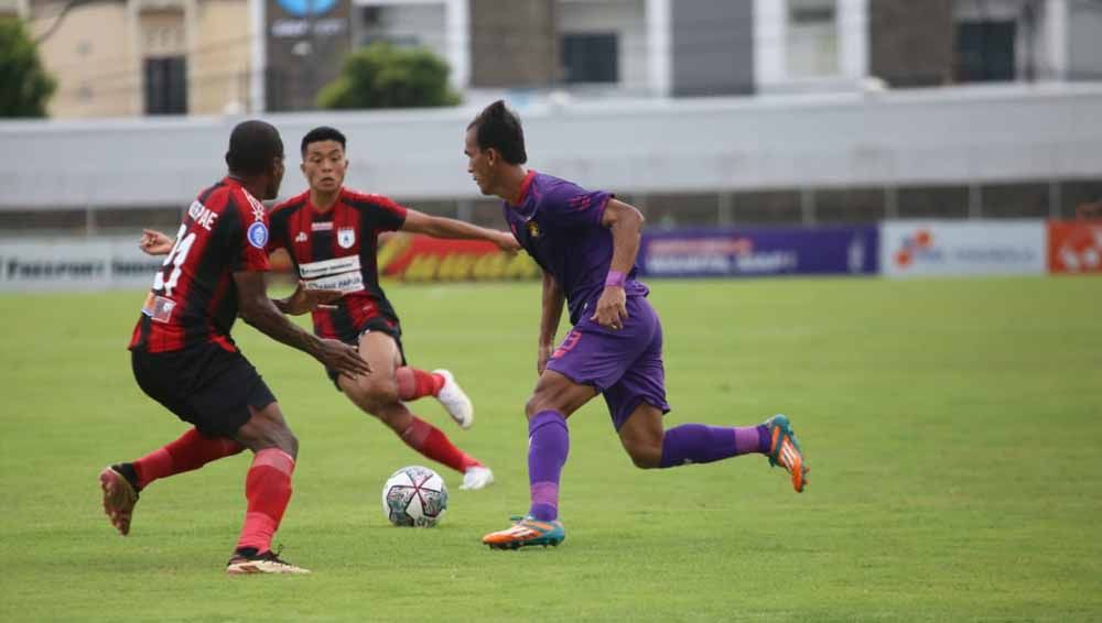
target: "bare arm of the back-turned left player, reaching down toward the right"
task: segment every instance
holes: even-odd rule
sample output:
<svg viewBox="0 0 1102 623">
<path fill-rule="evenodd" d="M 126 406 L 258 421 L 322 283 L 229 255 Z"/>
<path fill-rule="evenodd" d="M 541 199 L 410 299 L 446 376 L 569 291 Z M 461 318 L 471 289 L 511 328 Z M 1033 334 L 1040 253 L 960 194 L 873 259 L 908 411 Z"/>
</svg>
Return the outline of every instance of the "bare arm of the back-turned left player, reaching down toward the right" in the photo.
<svg viewBox="0 0 1102 623">
<path fill-rule="evenodd" d="M 356 379 L 370 374 L 371 368 L 357 352 L 339 340 L 322 339 L 304 331 L 280 313 L 268 298 L 263 273 L 245 271 L 234 273 L 241 318 L 278 342 L 296 348 L 342 374 Z"/>
</svg>

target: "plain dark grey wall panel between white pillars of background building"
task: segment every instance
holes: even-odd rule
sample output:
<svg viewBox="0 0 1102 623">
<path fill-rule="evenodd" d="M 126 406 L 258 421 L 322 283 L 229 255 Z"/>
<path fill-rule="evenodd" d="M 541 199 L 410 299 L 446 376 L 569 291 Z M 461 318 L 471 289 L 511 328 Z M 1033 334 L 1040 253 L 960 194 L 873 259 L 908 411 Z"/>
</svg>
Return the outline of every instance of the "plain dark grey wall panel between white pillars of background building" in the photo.
<svg viewBox="0 0 1102 623">
<path fill-rule="evenodd" d="M 754 90 L 753 11 L 750 0 L 673 1 L 673 95 Z"/>
</svg>

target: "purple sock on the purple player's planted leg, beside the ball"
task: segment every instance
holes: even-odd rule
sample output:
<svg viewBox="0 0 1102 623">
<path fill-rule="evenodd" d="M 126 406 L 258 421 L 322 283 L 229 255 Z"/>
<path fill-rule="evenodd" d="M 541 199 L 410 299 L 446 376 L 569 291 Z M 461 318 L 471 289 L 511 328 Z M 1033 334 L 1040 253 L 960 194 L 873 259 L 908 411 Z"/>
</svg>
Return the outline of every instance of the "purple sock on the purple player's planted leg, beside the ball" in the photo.
<svg viewBox="0 0 1102 623">
<path fill-rule="evenodd" d="M 559 517 L 559 476 L 570 452 L 566 418 L 542 411 L 528 420 L 528 482 L 532 506 L 528 514 L 541 522 Z"/>
</svg>

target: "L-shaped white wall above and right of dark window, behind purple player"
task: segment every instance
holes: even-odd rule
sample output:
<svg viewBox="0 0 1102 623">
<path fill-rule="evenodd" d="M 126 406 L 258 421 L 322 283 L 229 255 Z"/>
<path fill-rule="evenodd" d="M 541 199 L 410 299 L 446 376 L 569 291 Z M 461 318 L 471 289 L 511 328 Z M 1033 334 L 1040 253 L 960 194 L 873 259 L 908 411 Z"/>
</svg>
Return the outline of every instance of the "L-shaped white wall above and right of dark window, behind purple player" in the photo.
<svg viewBox="0 0 1102 623">
<path fill-rule="evenodd" d="M 649 80 L 645 0 L 560 0 L 559 32 L 618 34 L 619 86 L 642 91 Z"/>
</svg>

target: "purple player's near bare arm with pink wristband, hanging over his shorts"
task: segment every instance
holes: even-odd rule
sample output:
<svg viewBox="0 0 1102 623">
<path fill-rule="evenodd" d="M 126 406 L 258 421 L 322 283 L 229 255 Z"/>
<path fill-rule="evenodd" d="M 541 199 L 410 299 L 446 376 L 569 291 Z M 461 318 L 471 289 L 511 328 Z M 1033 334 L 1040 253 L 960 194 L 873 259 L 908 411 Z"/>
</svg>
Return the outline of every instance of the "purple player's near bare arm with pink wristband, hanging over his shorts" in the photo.
<svg viewBox="0 0 1102 623">
<path fill-rule="evenodd" d="M 642 236 L 642 214 L 635 206 L 617 199 L 609 199 L 605 206 L 601 225 L 613 232 L 613 260 L 608 266 L 605 289 L 597 299 L 591 320 L 603 327 L 619 329 L 627 320 L 627 295 L 624 282 L 635 265 Z"/>
</svg>

